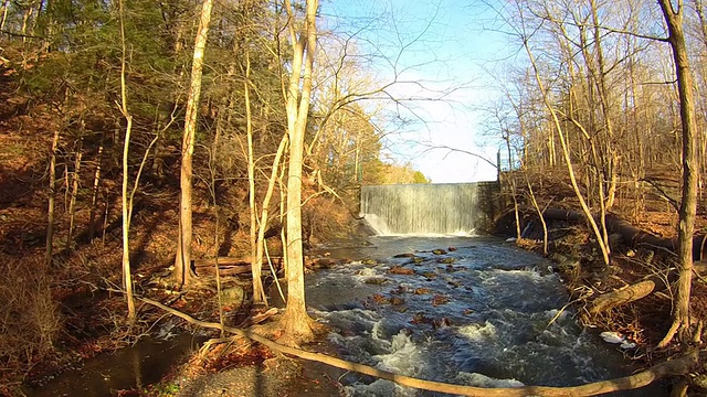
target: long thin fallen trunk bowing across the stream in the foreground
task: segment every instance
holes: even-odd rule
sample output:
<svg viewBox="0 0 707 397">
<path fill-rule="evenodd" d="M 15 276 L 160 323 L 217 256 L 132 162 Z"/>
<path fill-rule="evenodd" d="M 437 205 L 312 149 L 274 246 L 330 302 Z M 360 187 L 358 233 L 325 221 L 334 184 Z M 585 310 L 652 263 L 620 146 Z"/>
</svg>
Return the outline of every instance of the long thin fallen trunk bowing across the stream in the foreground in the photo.
<svg viewBox="0 0 707 397">
<path fill-rule="evenodd" d="M 323 364 L 327 364 L 337 368 L 354 371 L 360 374 L 374 376 L 381 379 L 388 379 L 402 386 L 414 387 L 424 390 L 455 394 L 462 396 L 507 396 L 507 397 L 520 397 L 520 396 L 595 396 L 599 394 L 636 389 L 650 385 L 651 383 L 667 377 L 667 376 L 680 376 L 688 374 L 698 363 L 698 352 L 695 351 L 690 354 L 682 356 L 677 360 L 666 361 L 657 364 L 651 368 L 647 368 L 637 374 L 625 376 L 622 378 L 595 382 L 581 386 L 569 387 L 550 387 L 550 386 L 524 386 L 524 387 L 503 387 L 503 388 L 486 388 L 475 386 L 463 386 L 444 384 L 440 382 L 418 379 L 410 376 L 398 375 L 388 371 L 374 368 L 369 365 L 351 363 L 345 360 L 331 357 L 325 354 L 306 352 L 300 348 L 289 347 L 279 343 L 273 342 L 264 336 L 257 335 L 247 330 L 235 329 L 231 326 L 222 326 L 219 323 L 205 322 L 197 320 L 189 314 L 182 313 L 176 309 L 167 307 L 160 302 L 139 298 L 141 301 L 155 305 L 165 310 L 168 313 L 177 315 L 192 324 L 210 328 L 220 331 L 225 331 L 238 336 L 246 337 L 252 341 L 262 343 L 263 345 L 273 348 L 277 352 L 293 355 L 299 358 L 314 361 Z"/>
</svg>

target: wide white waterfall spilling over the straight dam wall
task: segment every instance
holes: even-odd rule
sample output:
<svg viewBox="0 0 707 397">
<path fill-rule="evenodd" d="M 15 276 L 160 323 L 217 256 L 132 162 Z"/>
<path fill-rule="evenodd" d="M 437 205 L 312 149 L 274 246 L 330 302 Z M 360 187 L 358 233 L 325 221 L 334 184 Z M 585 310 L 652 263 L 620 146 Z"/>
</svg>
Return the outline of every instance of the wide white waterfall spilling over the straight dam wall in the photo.
<svg viewBox="0 0 707 397">
<path fill-rule="evenodd" d="M 474 234 L 496 208 L 496 182 L 361 187 L 361 216 L 381 235 Z"/>
</svg>

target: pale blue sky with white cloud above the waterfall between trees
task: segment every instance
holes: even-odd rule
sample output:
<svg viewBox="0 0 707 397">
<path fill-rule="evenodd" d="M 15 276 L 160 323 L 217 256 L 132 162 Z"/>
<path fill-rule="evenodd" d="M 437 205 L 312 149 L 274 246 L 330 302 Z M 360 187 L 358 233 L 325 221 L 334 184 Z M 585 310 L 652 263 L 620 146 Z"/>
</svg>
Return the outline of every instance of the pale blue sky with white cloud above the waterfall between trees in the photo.
<svg viewBox="0 0 707 397">
<path fill-rule="evenodd" d="M 390 155 L 410 161 L 435 183 L 493 180 L 498 139 L 488 137 L 488 111 L 498 100 L 498 61 L 513 52 L 493 26 L 495 13 L 477 1 L 323 0 L 323 28 L 356 32 L 359 52 L 374 54 L 390 93 L 413 98 L 383 104 L 410 120 L 389 125 Z M 446 93 L 446 94 L 443 94 Z"/>
</svg>

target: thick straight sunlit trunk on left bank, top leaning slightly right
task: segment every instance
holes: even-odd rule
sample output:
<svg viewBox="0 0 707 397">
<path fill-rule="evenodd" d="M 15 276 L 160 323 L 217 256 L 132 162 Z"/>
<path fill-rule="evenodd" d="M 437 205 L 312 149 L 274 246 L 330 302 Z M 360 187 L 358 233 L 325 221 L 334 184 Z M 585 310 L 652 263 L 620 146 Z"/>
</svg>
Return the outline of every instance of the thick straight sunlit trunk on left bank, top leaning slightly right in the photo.
<svg viewBox="0 0 707 397">
<path fill-rule="evenodd" d="M 192 155 L 194 152 L 194 135 L 197 130 L 197 114 L 199 111 L 199 96 L 201 95 L 201 74 L 203 69 L 203 52 L 207 46 L 207 34 L 211 21 L 212 0 L 203 0 L 199 31 L 194 42 L 194 55 L 191 64 L 191 86 L 187 100 L 187 116 L 181 143 L 181 173 L 179 200 L 179 237 L 177 258 L 175 259 L 175 279 L 179 286 L 188 286 L 194 276 L 191 269 L 191 191 Z"/>
</svg>

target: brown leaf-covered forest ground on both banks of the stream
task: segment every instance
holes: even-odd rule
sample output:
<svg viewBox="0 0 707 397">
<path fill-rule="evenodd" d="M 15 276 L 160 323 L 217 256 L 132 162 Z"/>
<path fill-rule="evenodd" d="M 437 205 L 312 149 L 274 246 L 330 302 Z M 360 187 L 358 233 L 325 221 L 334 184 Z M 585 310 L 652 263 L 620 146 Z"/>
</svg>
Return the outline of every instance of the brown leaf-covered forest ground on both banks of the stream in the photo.
<svg viewBox="0 0 707 397">
<path fill-rule="evenodd" d="M 2 109 L 0 108 L 0 112 Z M 44 116 L 43 116 L 44 115 Z M 106 175 L 103 187 L 105 207 L 96 238 L 88 242 L 83 230 L 75 242 L 67 243 L 66 225 L 68 182 L 60 181 L 57 194 L 57 234 L 55 258 L 51 266 L 44 259 L 46 237 L 46 159 L 51 147 L 51 131 L 56 128 L 48 114 L 0 118 L 0 301 L 8 314 L 0 324 L 0 395 L 18 393 L 21 384 L 41 384 L 49 375 L 76 366 L 82 360 L 99 352 L 119 348 L 134 343 L 146 334 L 163 312 L 147 305 L 140 307 L 140 321 L 130 325 L 126 321 L 126 304 L 120 286 L 122 229 L 118 191 L 119 175 Z M 176 165 L 165 171 L 178 174 Z M 676 176 L 676 175 L 675 175 Z M 551 180 L 551 176 L 550 176 Z M 539 181 L 538 189 L 546 203 L 572 207 L 572 193 L 557 175 L 553 182 Z M 172 181 L 173 182 L 173 181 Z M 168 281 L 169 266 L 173 261 L 177 240 L 178 214 L 175 197 L 178 183 L 144 181 L 136 201 L 133 221 L 130 251 L 138 294 L 161 302 L 204 320 L 218 319 L 217 292 L 212 278 L 204 280 L 181 298 L 172 291 Z M 546 193 L 542 196 L 544 192 Z M 240 198 L 241 200 L 242 194 Z M 625 205 L 629 207 L 629 205 Z M 319 202 L 316 206 L 319 224 L 314 230 L 319 239 L 337 235 L 331 230 L 350 229 L 341 226 L 342 207 L 334 201 Z M 335 215 L 335 214 L 339 215 Z M 624 213 L 630 213 L 624 210 Z M 226 223 L 214 238 L 213 211 L 205 189 L 197 189 L 194 200 L 194 253 L 197 257 L 215 255 L 244 256 L 247 236 L 238 223 Z M 698 214 L 698 229 L 707 227 L 704 211 Z M 346 217 L 346 216 L 344 216 Z M 89 208 L 80 207 L 76 224 L 87 225 Z M 245 218 L 245 217 L 242 217 Z M 336 222 L 334 222 L 336 219 Z M 639 227 L 662 236 L 673 236 L 676 217 L 668 208 L 658 205 L 651 211 L 639 212 L 630 219 Z M 330 222 L 331 221 L 331 222 Z M 510 224 L 506 234 L 513 230 Z M 576 297 L 597 294 L 635 282 L 652 272 L 664 271 L 669 254 L 655 253 L 662 261 L 645 260 L 647 251 L 615 242 L 613 262 L 609 268 L 595 266 L 600 260 L 595 243 L 583 225 L 555 223 L 556 233 L 550 245 L 550 258 L 560 266 L 568 290 Z M 503 227 L 502 227 L 503 228 Z M 507 234 L 508 235 L 508 234 Z M 513 235 L 513 233 L 510 234 Z M 228 244 L 226 244 L 228 243 Z M 537 225 L 528 238 L 518 244 L 538 251 Z M 276 253 L 278 247 L 273 245 Z M 662 264 L 662 265 L 661 265 Z M 245 290 L 250 281 L 226 278 L 225 288 Z M 704 279 L 696 279 L 693 291 L 694 313 L 705 319 L 707 313 L 707 287 Z M 675 353 L 672 350 L 652 351 L 669 326 L 672 300 L 669 293 L 654 293 L 637 302 L 612 310 L 595 318 L 585 318 L 587 325 L 620 332 L 639 344 L 630 358 L 646 365 L 654 364 Z M 242 302 L 226 305 L 233 323 L 262 312 Z M 580 312 L 582 308 L 578 309 Z M 212 334 L 211 336 L 217 336 Z M 308 348 L 324 350 L 324 345 Z M 147 390 L 124 391 L 123 395 L 182 396 L 338 396 L 341 386 L 337 382 L 340 372 L 319 364 L 275 357 L 272 352 L 251 348 L 250 344 L 231 346 L 223 352 L 213 350 L 205 357 L 193 356 L 175 371 L 165 382 Z M 178 390 L 176 385 L 179 385 Z"/>
</svg>

